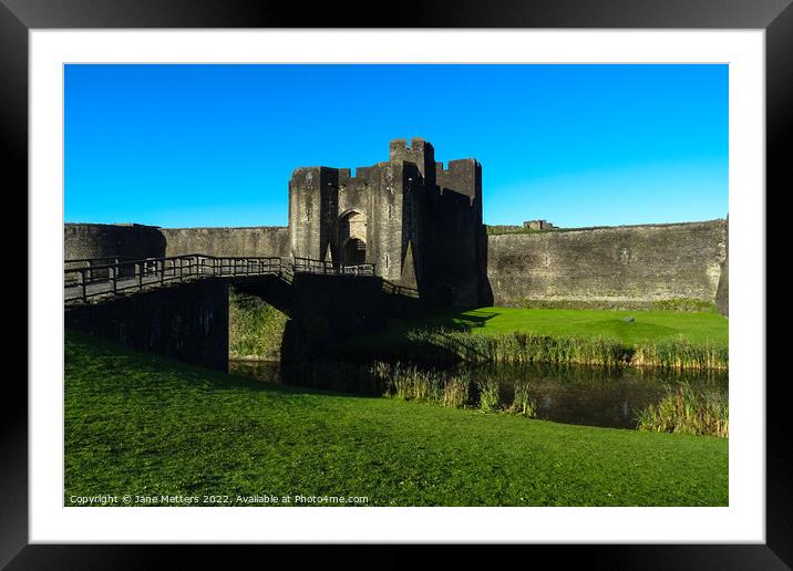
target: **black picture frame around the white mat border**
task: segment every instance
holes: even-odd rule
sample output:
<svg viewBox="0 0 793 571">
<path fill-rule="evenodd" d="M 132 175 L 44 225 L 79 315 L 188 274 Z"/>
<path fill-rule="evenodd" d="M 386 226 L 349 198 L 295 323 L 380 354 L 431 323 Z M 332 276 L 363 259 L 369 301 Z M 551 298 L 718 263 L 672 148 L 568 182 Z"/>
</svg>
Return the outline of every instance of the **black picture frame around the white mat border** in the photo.
<svg viewBox="0 0 793 571">
<path fill-rule="evenodd" d="M 792 0 L 452 0 L 406 2 L 389 10 L 347 12 L 337 3 L 310 10 L 297 2 L 254 0 L 0 0 L 0 133 L 7 195 L 27 198 L 28 32 L 71 28 L 598 28 L 762 29 L 766 70 L 766 204 L 790 189 L 793 160 Z M 11 175 L 11 176 L 9 176 Z M 13 183 L 10 183 L 13 180 Z M 763 189 L 758 189 L 763 191 Z M 24 201 L 27 207 L 27 199 Z M 774 215 L 774 209 L 766 207 Z M 780 216 L 776 211 L 776 216 Z M 775 226 L 773 218 L 766 228 Z M 779 220 L 777 220 L 779 221 Z M 780 222 L 781 224 L 781 222 Z M 766 240 L 766 260 L 773 242 Z M 33 263 L 29 260 L 29 263 Z M 18 299 L 27 283 L 16 281 Z M 24 290 L 24 291 L 23 291 Z M 768 281 L 766 297 L 773 288 Z M 766 298 L 768 299 L 768 298 Z M 768 303 L 768 302 L 766 302 Z M 780 335 L 781 336 L 781 335 Z M 25 336 L 27 338 L 27 336 Z M 766 335 L 768 343 L 780 341 Z M 35 343 L 34 339 L 29 340 Z M 766 349 L 766 355 L 770 353 Z M 766 360 L 768 367 L 768 360 Z M 766 375 L 768 376 L 768 375 Z M 9 381 L 11 377 L 8 377 Z M 13 377 L 18 381 L 19 377 Z M 764 380 L 755 380 L 758 384 Z M 709 546 L 580 546 L 554 549 L 557 563 L 625 569 L 786 569 L 793 565 L 793 446 L 784 377 L 766 384 L 766 543 Z M 9 386 L 11 385 L 11 386 Z M 28 391 L 7 382 L 0 416 L 0 568 L 142 569 L 184 547 L 28 544 Z M 257 547 L 246 548 L 247 550 Z M 204 548 L 189 551 L 205 558 Z M 395 560 L 394 560 L 395 561 Z"/>
</svg>

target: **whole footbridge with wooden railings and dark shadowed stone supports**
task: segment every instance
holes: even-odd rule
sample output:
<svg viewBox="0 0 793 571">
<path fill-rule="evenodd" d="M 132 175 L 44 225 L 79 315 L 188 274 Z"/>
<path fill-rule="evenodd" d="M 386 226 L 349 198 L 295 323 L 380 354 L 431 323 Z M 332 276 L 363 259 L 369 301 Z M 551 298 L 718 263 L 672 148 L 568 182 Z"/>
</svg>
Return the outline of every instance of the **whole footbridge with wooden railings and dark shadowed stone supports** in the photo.
<svg viewBox="0 0 793 571">
<path fill-rule="evenodd" d="M 168 287 L 173 286 L 173 287 Z M 389 315 L 423 305 L 419 291 L 375 276 L 374 266 L 309 258 L 92 258 L 64 263 L 64 324 L 209 368 L 228 368 L 229 286 L 288 316 L 281 359 L 322 354 L 382 330 Z"/>
</svg>

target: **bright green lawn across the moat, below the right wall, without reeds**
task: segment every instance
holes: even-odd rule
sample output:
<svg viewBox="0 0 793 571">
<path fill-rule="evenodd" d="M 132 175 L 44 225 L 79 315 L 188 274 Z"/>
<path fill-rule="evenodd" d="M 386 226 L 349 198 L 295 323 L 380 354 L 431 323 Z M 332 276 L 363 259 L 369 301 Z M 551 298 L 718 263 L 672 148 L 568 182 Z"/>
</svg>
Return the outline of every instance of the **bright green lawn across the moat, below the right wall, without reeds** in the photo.
<svg viewBox="0 0 793 571">
<path fill-rule="evenodd" d="M 632 322 L 625 319 L 631 316 Z M 683 336 L 692 343 L 728 344 L 728 320 L 715 312 L 480 308 L 422 319 L 391 320 L 387 331 L 357 345 L 387 346 L 411 329 L 454 328 L 477 334 L 524 331 L 556 338 L 612 338 L 626 346 Z"/>
</svg>

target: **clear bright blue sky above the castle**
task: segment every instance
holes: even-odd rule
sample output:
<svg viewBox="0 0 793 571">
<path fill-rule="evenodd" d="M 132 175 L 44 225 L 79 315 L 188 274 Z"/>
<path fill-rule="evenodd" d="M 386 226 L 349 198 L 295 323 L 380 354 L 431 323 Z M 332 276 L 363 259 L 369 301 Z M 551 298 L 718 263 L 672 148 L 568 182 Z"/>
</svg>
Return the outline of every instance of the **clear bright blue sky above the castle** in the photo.
<svg viewBox="0 0 793 571">
<path fill-rule="evenodd" d="M 727 65 L 66 65 L 65 220 L 287 224 L 298 166 L 482 163 L 486 224 L 728 212 Z"/>
</svg>

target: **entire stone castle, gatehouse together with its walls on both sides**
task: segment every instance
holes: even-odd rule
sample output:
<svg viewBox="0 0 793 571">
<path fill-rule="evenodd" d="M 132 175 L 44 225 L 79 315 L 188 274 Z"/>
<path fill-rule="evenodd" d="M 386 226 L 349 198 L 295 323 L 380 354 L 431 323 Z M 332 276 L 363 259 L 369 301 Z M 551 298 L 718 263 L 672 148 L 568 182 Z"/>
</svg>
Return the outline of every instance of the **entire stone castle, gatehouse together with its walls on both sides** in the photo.
<svg viewBox="0 0 793 571">
<path fill-rule="evenodd" d="M 431 305 L 563 303 L 645 307 L 715 302 L 728 312 L 727 219 L 557 229 L 546 220 L 486 227 L 482 166 L 444 168 L 421 138 L 390 143 L 369 167 L 301 167 L 289 226 L 159 228 L 64 225 L 66 260 L 205 253 L 374 264 Z"/>
</svg>

